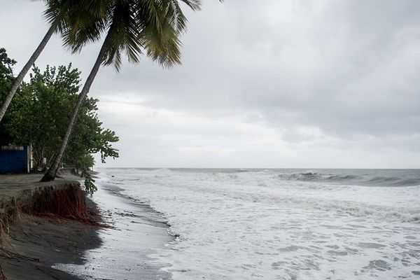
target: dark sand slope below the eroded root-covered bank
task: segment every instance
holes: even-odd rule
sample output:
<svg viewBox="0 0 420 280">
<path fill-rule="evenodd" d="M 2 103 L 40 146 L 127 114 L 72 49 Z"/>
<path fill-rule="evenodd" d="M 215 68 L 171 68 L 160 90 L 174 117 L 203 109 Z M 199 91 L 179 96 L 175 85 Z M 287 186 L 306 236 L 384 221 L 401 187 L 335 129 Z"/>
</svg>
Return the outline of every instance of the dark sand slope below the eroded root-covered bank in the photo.
<svg viewBox="0 0 420 280">
<path fill-rule="evenodd" d="M 9 280 L 84 279 L 51 266 L 56 262 L 83 264 L 85 251 L 102 244 L 96 226 L 27 214 L 11 223 L 6 233 L 0 265 Z"/>
</svg>

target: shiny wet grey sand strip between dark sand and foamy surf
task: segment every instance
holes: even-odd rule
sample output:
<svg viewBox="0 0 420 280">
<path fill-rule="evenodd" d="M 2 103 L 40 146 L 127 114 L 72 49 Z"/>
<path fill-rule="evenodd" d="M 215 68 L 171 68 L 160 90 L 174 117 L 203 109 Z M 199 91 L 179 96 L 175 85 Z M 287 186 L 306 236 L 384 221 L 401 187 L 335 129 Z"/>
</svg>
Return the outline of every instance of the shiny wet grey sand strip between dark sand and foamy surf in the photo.
<svg viewBox="0 0 420 280">
<path fill-rule="evenodd" d="M 92 199 L 111 225 L 98 231 L 102 246 L 87 251 L 83 265 L 66 262 L 55 268 L 83 279 L 172 279 L 171 274 L 160 270 L 164 264 L 148 257 L 153 249 L 174 241 L 165 218 L 148 205 L 125 197 L 116 186 L 99 186 Z"/>
</svg>

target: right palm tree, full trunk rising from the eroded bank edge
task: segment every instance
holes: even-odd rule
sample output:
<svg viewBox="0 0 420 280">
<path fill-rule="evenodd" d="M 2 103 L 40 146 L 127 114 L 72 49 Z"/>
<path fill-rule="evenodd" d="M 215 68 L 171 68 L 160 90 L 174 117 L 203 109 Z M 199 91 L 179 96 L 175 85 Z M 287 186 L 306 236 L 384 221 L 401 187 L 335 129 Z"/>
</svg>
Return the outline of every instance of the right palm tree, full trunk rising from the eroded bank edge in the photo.
<svg viewBox="0 0 420 280">
<path fill-rule="evenodd" d="M 200 0 L 180 0 L 193 10 L 200 9 Z M 186 17 L 183 14 L 179 0 L 114 0 L 109 9 L 105 25 L 108 28 L 99 55 L 76 103 L 73 115 L 62 146 L 54 162 L 45 173 L 41 181 L 55 179 L 57 170 L 66 151 L 71 132 L 76 124 L 78 111 L 82 106 L 90 86 L 101 65 L 113 64 L 120 69 L 122 63 L 121 52 L 126 52 L 130 62 L 139 62 L 139 57 L 145 54 L 162 66 L 181 64 L 181 41 L 179 36 L 186 30 Z M 67 37 L 73 52 L 80 51 L 88 41 L 97 39 L 85 28 L 77 30 Z"/>
</svg>

